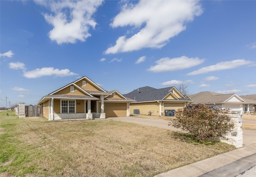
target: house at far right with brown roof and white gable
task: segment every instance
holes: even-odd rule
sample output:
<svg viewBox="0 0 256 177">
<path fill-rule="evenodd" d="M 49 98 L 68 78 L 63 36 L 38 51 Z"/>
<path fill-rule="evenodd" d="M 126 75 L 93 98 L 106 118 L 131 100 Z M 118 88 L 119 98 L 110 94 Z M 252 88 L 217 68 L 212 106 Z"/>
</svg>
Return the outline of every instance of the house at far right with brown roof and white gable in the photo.
<svg viewBox="0 0 256 177">
<path fill-rule="evenodd" d="M 253 105 L 256 101 L 245 99 L 237 94 L 220 94 L 215 92 L 199 92 L 189 96 L 194 100 L 193 104 L 207 104 L 216 106 L 217 108 L 226 108 L 231 110 L 239 110 L 242 112 L 253 111 Z M 186 96 L 188 98 L 188 96 Z M 248 96 L 248 98 L 250 98 Z"/>
</svg>

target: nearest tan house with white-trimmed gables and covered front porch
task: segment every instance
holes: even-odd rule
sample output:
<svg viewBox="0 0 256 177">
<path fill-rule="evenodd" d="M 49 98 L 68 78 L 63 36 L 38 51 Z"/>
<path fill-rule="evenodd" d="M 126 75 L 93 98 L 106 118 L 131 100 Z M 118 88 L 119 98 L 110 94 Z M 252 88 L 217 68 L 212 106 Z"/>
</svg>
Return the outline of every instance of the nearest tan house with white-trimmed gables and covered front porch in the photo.
<svg viewBox="0 0 256 177">
<path fill-rule="evenodd" d="M 48 120 L 61 120 L 130 116 L 133 101 L 117 90 L 104 90 L 84 76 L 47 94 L 37 104 L 43 106 Z"/>
</svg>

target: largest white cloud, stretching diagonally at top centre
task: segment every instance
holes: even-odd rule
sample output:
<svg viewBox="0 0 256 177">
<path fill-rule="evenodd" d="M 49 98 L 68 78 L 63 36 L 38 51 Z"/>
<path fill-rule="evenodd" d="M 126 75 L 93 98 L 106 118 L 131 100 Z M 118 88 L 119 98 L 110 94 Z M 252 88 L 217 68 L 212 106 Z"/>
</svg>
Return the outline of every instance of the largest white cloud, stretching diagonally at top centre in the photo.
<svg viewBox="0 0 256 177">
<path fill-rule="evenodd" d="M 120 36 L 116 45 L 105 51 L 106 54 L 161 48 L 170 38 L 186 30 L 187 22 L 202 14 L 199 1 L 141 0 L 135 5 L 128 3 L 122 7 L 110 26 L 134 26 L 138 33 L 130 38 Z"/>
</svg>

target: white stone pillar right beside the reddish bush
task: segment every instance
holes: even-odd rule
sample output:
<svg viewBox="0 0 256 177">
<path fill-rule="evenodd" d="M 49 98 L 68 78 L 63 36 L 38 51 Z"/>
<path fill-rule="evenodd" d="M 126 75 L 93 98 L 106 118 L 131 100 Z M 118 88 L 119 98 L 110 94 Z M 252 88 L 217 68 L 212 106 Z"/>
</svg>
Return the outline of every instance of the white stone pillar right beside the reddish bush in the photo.
<svg viewBox="0 0 256 177">
<path fill-rule="evenodd" d="M 231 144 L 236 148 L 243 147 L 243 130 L 242 130 L 242 113 L 240 111 L 229 111 L 228 116 L 231 117 L 231 122 L 234 123 L 234 129 L 226 135 L 228 140 L 220 140 L 227 144 Z"/>
</svg>

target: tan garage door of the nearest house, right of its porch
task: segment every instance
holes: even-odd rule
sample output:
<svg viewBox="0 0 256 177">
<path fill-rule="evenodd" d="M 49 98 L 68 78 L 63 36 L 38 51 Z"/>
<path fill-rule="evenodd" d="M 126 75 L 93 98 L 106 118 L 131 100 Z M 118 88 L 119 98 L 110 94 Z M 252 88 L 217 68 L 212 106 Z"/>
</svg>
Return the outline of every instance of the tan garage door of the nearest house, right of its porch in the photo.
<svg viewBox="0 0 256 177">
<path fill-rule="evenodd" d="M 120 102 L 104 102 L 106 117 L 127 116 L 127 104 Z"/>
</svg>

